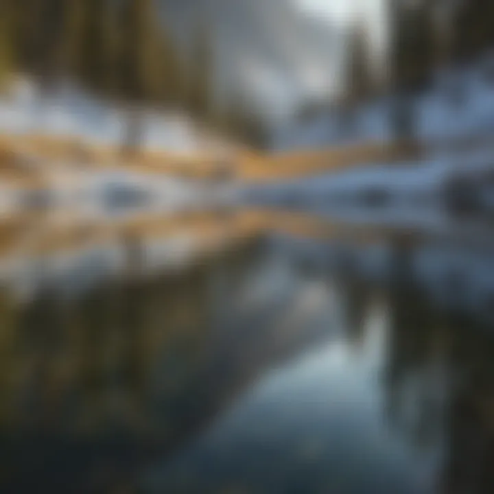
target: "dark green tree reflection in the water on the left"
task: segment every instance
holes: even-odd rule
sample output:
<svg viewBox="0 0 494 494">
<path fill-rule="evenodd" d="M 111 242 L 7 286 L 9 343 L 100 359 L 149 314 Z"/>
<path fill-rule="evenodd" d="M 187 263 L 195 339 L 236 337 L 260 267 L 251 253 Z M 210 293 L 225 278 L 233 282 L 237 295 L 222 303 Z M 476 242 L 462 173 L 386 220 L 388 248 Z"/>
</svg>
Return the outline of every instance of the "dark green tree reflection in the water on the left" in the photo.
<svg viewBox="0 0 494 494">
<path fill-rule="evenodd" d="M 142 458 L 163 454 L 202 427 L 235 392 L 211 386 L 217 367 L 211 338 L 221 327 L 212 323 L 235 298 L 255 248 L 139 277 L 133 246 L 123 278 L 79 296 L 45 290 L 21 303 L 4 287 L 6 486 L 86 492 L 125 484 Z M 217 277 L 225 285 L 220 296 Z"/>
</svg>

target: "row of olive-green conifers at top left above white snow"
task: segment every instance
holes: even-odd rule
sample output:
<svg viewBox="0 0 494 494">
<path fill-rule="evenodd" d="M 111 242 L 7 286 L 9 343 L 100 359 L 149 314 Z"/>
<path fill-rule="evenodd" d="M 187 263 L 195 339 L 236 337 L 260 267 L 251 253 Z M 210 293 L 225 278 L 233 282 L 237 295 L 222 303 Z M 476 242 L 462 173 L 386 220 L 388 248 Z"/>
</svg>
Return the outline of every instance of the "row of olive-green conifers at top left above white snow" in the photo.
<svg viewBox="0 0 494 494">
<path fill-rule="evenodd" d="M 128 110 L 125 142 L 141 141 L 143 108 L 182 110 L 199 124 L 260 144 L 246 104 L 215 104 L 211 32 L 198 25 L 184 47 L 155 0 L 2 0 L 0 79 L 21 73 L 45 92 L 72 82 Z M 242 102 L 242 99 L 239 101 Z"/>
</svg>

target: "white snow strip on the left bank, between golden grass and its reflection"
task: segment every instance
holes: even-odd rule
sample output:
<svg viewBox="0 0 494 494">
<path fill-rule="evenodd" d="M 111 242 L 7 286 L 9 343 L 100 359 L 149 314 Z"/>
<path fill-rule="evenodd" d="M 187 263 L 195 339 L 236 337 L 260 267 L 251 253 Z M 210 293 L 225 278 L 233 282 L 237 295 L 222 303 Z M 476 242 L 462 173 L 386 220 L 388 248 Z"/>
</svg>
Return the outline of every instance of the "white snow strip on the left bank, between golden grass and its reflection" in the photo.
<svg viewBox="0 0 494 494">
<path fill-rule="evenodd" d="M 41 189 L 23 189 L 0 183 L 0 217 L 43 209 L 83 220 L 128 219 L 142 213 L 172 215 L 233 207 L 239 191 L 228 183 L 204 183 L 172 176 L 130 172 L 54 172 Z"/>
</svg>

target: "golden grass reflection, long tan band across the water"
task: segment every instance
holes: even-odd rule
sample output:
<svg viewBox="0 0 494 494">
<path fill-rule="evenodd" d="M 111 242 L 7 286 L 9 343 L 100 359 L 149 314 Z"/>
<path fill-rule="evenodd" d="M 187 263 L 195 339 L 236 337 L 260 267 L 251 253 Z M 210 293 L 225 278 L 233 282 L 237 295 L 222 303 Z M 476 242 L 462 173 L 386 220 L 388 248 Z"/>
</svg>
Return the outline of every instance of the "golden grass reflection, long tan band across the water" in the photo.
<svg viewBox="0 0 494 494">
<path fill-rule="evenodd" d="M 19 254 L 54 255 L 106 244 L 145 245 L 155 240 L 186 237 L 199 250 L 231 248 L 264 233 L 279 232 L 295 237 L 339 239 L 348 235 L 360 242 L 394 235 L 386 228 L 348 226 L 304 213 L 248 210 L 234 213 L 196 211 L 183 214 L 146 214 L 119 222 L 91 222 L 77 215 L 64 221 L 49 214 L 25 213 L 0 218 L 0 259 Z"/>
</svg>

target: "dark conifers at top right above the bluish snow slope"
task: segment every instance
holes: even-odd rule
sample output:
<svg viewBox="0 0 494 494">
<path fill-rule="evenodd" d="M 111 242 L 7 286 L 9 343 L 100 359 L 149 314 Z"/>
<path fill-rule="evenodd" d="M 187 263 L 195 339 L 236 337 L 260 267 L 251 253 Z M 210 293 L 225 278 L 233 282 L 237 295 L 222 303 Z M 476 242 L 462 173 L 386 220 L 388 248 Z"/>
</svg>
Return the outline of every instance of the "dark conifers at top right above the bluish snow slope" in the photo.
<svg viewBox="0 0 494 494">
<path fill-rule="evenodd" d="M 353 132 L 362 104 L 390 96 L 391 128 L 397 139 L 408 139 L 414 137 L 415 98 L 440 73 L 451 102 L 462 103 L 462 87 L 454 75 L 494 49 L 494 1 L 388 0 L 380 28 L 386 43 L 377 50 L 363 15 L 346 30 L 341 89 L 331 108 L 338 112 L 343 132 Z M 305 104 L 301 117 L 321 106 Z"/>
</svg>

